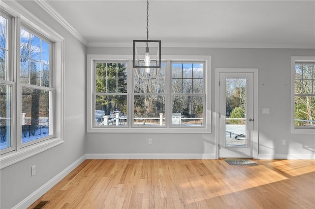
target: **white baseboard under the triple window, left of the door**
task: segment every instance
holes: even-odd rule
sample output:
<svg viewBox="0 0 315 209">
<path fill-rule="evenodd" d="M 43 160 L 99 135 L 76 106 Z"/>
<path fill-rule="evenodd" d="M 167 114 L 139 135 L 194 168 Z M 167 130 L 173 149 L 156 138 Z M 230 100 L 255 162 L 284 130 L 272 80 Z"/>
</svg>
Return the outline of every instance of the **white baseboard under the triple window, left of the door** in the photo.
<svg viewBox="0 0 315 209">
<path fill-rule="evenodd" d="M 87 159 L 215 159 L 215 154 L 86 154 Z"/>
</svg>

